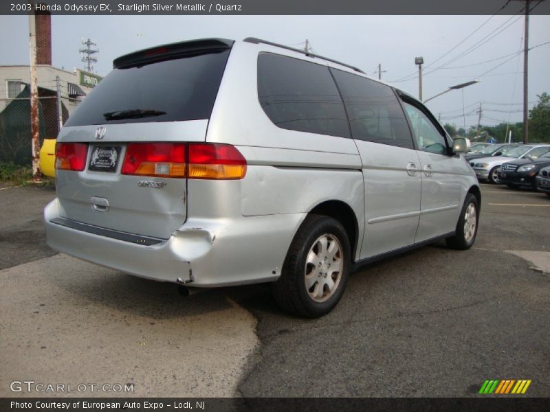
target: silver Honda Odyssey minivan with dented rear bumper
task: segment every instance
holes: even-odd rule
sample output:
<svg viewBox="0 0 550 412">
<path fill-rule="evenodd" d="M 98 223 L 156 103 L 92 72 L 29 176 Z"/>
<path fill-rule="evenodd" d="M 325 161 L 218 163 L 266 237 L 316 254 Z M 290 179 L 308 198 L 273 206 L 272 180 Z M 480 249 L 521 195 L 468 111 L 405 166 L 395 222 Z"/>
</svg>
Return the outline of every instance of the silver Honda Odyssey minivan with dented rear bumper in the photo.
<svg viewBox="0 0 550 412">
<path fill-rule="evenodd" d="M 272 282 L 319 317 L 362 264 L 474 243 L 469 142 L 360 69 L 257 38 L 113 66 L 58 136 L 53 249 L 191 288 Z"/>
</svg>

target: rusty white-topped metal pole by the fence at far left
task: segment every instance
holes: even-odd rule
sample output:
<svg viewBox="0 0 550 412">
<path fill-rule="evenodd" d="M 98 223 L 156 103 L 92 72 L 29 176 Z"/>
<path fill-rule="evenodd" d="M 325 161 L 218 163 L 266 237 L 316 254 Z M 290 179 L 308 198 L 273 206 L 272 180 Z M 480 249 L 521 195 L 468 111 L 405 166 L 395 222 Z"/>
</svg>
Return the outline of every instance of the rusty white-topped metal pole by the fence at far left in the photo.
<svg viewBox="0 0 550 412">
<path fill-rule="evenodd" d="M 39 87 L 36 77 L 36 25 L 34 13 L 29 14 L 30 47 L 30 133 L 32 153 L 32 181 L 40 183 L 40 141 L 39 141 Z"/>
</svg>

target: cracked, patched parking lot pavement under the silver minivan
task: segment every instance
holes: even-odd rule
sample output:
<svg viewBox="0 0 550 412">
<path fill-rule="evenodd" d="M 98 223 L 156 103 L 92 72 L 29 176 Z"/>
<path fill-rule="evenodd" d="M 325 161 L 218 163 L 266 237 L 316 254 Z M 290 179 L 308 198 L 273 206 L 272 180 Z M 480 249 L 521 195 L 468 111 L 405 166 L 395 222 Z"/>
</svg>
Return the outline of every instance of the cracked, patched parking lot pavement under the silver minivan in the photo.
<svg viewBox="0 0 550 412">
<path fill-rule="evenodd" d="M 550 396 L 550 197 L 494 185 L 482 196 L 470 251 L 439 242 L 365 266 L 336 310 L 305 320 L 267 285 L 182 298 L 54 255 L 40 222 L 54 190 L 1 190 L 0 393 L 25 371 L 133 380 L 135 396 L 462 397 L 492 378 Z"/>
</svg>

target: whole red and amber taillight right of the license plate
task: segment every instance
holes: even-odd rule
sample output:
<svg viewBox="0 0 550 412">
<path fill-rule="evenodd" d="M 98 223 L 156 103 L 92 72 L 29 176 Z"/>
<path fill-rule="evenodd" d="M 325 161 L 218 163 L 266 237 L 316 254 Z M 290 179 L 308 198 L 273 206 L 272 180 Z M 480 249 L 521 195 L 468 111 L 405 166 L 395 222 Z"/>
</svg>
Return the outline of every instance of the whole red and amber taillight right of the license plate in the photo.
<svg viewBox="0 0 550 412">
<path fill-rule="evenodd" d="M 243 179 L 246 160 L 228 144 L 130 143 L 122 174 L 188 179 Z"/>
</svg>

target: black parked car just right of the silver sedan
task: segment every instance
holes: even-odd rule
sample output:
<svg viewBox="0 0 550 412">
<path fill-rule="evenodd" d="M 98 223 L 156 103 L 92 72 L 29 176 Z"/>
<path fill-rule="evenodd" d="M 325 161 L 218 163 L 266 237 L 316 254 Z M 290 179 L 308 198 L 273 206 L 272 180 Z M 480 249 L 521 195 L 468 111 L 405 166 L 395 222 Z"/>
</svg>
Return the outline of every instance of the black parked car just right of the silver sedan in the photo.
<svg viewBox="0 0 550 412">
<path fill-rule="evenodd" d="M 508 187 L 536 189 L 535 176 L 540 169 L 550 166 L 549 151 L 540 157 L 517 159 L 503 163 L 498 171 L 498 181 Z"/>
</svg>

